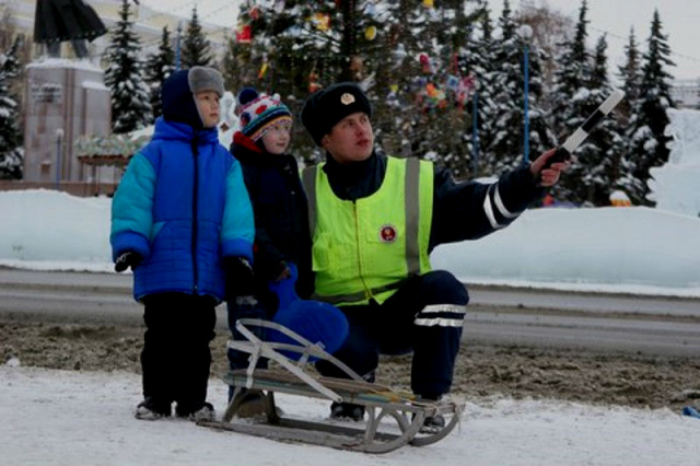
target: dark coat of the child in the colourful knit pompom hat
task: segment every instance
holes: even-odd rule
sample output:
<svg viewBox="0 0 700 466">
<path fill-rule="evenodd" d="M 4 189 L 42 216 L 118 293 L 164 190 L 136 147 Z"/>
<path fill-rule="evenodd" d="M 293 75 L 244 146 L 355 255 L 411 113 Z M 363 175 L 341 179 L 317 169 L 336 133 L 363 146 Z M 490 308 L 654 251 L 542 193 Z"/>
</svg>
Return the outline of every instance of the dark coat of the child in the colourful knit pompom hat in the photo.
<svg viewBox="0 0 700 466">
<path fill-rule="evenodd" d="M 255 214 L 255 273 L 258 289 L 279 277 L 284 264 L 299 269 L 296 293 L 308 299 L 314 290 L 311 271 L 308 207 L 293 155 L 264 151 L 241 132 L 231 152 L 243 166 Z"/>
</svg>

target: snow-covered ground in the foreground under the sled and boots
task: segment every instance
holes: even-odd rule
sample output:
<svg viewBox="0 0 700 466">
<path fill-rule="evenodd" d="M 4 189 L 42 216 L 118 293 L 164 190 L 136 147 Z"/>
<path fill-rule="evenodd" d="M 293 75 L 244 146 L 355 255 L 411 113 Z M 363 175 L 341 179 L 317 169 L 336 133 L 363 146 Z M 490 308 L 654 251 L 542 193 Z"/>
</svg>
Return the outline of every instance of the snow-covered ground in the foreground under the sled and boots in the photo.
<svg viewBox="0 0 700 466">
<path fill-rule="evenodd" d="M 210 393 L 223 399 L 225 387 Z M 278 443 L 179 419 L 138 421 L 140 378 L 0 366 L 0 465 L 585 465 L 697 466 L 700 419 L 669 410 L 560 401 L 478 399 L 445 440 L 383 455 Z M 288 415 L 328 404 L 280 396 Z"/>
</svg>

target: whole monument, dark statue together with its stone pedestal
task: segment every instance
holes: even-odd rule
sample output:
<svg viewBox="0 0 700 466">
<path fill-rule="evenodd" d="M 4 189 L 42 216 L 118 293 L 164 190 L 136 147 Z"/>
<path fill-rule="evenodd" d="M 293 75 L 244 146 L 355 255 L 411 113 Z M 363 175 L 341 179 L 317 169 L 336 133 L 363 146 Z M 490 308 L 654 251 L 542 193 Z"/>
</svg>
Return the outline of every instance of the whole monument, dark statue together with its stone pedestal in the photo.
<svg viewBox="0 0 700 466">
<path fill-rule="evenodd" d="M 61 189 L 65 182 L 92 180 L 75 156 L 78 138 L 112 132 L 104 71 L 90 62 L 85 45 L 106 28 L 81 0 L 38 0 L 34 26 L 34 40 L 47 46 L 48 56 L 26 67 L 24 180 Z M 78 58 L 59 58 L 63 42 Z"/>
</svg>

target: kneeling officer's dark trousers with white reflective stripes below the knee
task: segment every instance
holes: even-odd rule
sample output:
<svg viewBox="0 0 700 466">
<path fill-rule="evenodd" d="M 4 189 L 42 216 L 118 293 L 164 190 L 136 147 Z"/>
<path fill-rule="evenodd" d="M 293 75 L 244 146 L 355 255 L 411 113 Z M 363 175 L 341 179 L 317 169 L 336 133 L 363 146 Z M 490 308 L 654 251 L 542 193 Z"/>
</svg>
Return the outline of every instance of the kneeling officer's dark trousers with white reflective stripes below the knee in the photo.
<svg viewBox="0 0 700 466">
<path fill-rule="evenodd" d="M 464 284 L 447 271 L 411 277 L 382 304 L 341 307 L 350 334 L 334 356 L 372 382 L 381 353 L 412 351 L 412 392 L 438 399 L 452 386 L 468 302 Z M 316 368 L 327 376 L 346 376 L 327 361 Z"/>
</svg>

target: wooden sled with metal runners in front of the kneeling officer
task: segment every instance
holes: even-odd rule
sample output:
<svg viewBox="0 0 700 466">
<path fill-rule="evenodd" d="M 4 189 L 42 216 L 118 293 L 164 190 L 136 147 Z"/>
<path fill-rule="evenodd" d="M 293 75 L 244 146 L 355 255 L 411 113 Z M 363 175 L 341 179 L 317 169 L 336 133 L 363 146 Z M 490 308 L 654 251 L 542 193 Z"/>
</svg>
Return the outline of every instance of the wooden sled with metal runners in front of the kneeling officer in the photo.
<svg viewBox="0 0 700 466">
<path fill-rule="evenodd" d="M 247 326 L 278 330 L 299 345 L 264 341 Z M 444 439 L 459 422 L 463 407 L 453 400 L 425 401 L 412 394 L 395 392 L 388 387 L 364 381 L 345 363 L 279 324 L 259 319 L 240 319 L 236 329 L 248 341 L 230 340 L 231 349 L 250 353 L 247 370 L 230 371 L 223 381 L 234 387 L 234 396 L 220 421 L 200 421 L 200 426 L 230 430 L 278 441 L 301 442 L 334 448 L 366 453 L 386 453 L 404 445 L 423 446 Z M 287 358 L 287 351 L 301 354 L 299 360 Z M 279 369 L 256 369 L 259 358 L 277 362 Z M 341 369 L 348 378 L 312 375 L 304 371 L 310 358 L 324 359 Z M 233 401 L 242 388 L 264 391 L 265 416 L 253 419 L 236 417 L 238 406 Z M 362 405 L 368 413 L 364 429 L 340 426 L 337 421 L 312 422 L 281 417 L 275 405 L 275 394 L 284 393 L 323 398 L 338 403 Z M 430 433 L 420 432 L 429 416 L 442 415 L 446 426 Z M 360 424 L 360 422 L 358 422 Z"/>
</svg>

